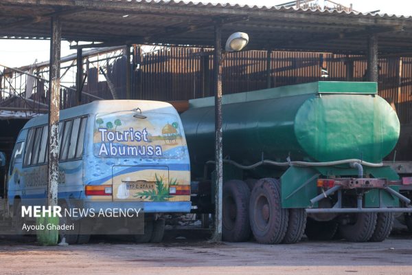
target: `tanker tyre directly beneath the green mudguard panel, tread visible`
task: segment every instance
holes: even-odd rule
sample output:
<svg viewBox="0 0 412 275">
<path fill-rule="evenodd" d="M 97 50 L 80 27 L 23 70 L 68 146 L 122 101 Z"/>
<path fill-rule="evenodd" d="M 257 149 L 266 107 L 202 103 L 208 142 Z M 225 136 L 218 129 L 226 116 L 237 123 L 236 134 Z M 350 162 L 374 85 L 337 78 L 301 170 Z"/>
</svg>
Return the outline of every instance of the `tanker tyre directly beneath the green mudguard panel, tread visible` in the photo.
<svg viewBox="0 0 412 275">
<path fill-rule="evenodd" d="M 297 243 L 305 232 L 306 211 L 304 208 L 290 208 L 288 211 L 288 229 L 282 243 Z"/>
</svg>

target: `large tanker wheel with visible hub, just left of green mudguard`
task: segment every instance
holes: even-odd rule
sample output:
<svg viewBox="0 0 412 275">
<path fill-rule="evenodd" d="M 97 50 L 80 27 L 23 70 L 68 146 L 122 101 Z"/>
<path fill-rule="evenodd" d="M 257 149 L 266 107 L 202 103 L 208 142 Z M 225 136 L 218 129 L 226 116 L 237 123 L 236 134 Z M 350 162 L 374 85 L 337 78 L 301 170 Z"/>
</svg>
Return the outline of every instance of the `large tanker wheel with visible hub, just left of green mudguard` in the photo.
<svg viewBox="0 0 412 275">
<path fill-rule="evenodd" d="M 260 179 L 251 193 L 249 217 L 258 243 L 280 243 L 288 229 L 288 209 L 282 208 L 277 179 Z"/>
</svg>

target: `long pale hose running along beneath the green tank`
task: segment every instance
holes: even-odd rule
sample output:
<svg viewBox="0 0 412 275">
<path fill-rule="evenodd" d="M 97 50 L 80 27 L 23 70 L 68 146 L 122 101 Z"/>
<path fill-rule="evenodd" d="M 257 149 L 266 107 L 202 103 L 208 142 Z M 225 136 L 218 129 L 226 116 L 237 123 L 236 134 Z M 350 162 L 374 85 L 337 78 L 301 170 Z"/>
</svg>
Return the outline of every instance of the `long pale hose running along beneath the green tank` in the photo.
<svg viewBox="0 0 412 275">
<path fill-rule="evenodd" d="M 223 162 L 232 164 L 233 166 L 236 166 L 240 169 L 243 170 L 250 170 L 253 168 L 256 168 L 262 164 L 270 164 L 274 166 L 336 166 L 336 165 L 341 165 L 341 164 L 350 164 L 352 166 L 353 163 L 369 166 L 369 167 L 382 167 L 383 164 L 382 162 L 380 163 L 372 163 L 372 162 L 364 162 L 361 159 L 342 159 L 342 160 L 336 160 L 333 162 L 274 162 L 273 160 L 270 159 L 263 159 L 260 162 L 256 162 L 255 164 L 251 164 L 249 166 L 245 166 L 242 164 L 238 164 L 237 162 L 234 162 L 231 159 L 223 159 Z M 206 162 L 206 164 L 215 164 L 216 162 L 214 160 L 209 160 Z"/>
</svg>

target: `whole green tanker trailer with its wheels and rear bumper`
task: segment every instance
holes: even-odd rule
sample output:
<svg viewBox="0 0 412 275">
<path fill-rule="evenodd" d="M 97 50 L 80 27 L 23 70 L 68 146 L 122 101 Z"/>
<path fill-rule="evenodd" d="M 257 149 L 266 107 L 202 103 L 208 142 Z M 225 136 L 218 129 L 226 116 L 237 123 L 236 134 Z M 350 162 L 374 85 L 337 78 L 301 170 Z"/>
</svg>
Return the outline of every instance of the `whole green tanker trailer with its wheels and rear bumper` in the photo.
<svg viewBox="0 0 412 275">
<path fill-rule="evenodd" d="M 396 112 L 376 83 L 317 82 L 222 98 L 223 217 L 227 241 L 383 241 L 393 212 L 409 212 L 398 175 L 382 165 L 396 145 Z M 211 212 L 214 98 L 181 114 L 193 203 Z"/>
</svg>

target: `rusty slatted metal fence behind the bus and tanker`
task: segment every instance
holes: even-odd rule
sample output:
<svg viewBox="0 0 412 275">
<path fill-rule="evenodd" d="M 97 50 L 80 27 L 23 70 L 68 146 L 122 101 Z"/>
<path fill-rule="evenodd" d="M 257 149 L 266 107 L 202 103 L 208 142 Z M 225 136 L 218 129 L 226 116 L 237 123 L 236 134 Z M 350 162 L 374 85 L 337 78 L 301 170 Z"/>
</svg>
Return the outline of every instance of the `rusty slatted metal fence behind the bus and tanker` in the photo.
<svg viewBox="0 0 412 275">
<path fill-rule="evenodd" d="M 133 47 L 132 98 L 170 101 L 213 96 L 211 54 L 210 49 L 191 47 Z M 271 52 L 270 56 L 265 51 L 230 53 L 223 66 L 223 94 L 317 80 L 365 81 L 363 58 L 307 52 Z M 98 98 L 112 99 L 113 93 L 118 98 L 126 98 L 126 60 L 118 50 L 106 58 L 84 58 L 87 81 L 82 90 L 82 103 Z M 67 62 L 69 65 L 62 66 L 62 74 L 75 74 L 74 60 Z M 39 110 L 47 107 L 47 68 L 37 67 L 32 74 L 27 73 L 30 72 L 21 74 L 0 67 L 0 107 L 29 106 Z M 38 76 L 33 85 L 31 75 Z M 24 79 L 19 82 L 19 78 Z M 66 85 L 62 87 L 62 109 L 76 104 L 75 77 L 71 79 L 73 83 L 62 82 Z M 400 121 L 412 122 L 412 58 L 380 58 L 378 87 L 380 96 L 396 107 Z"/>
</svg>

